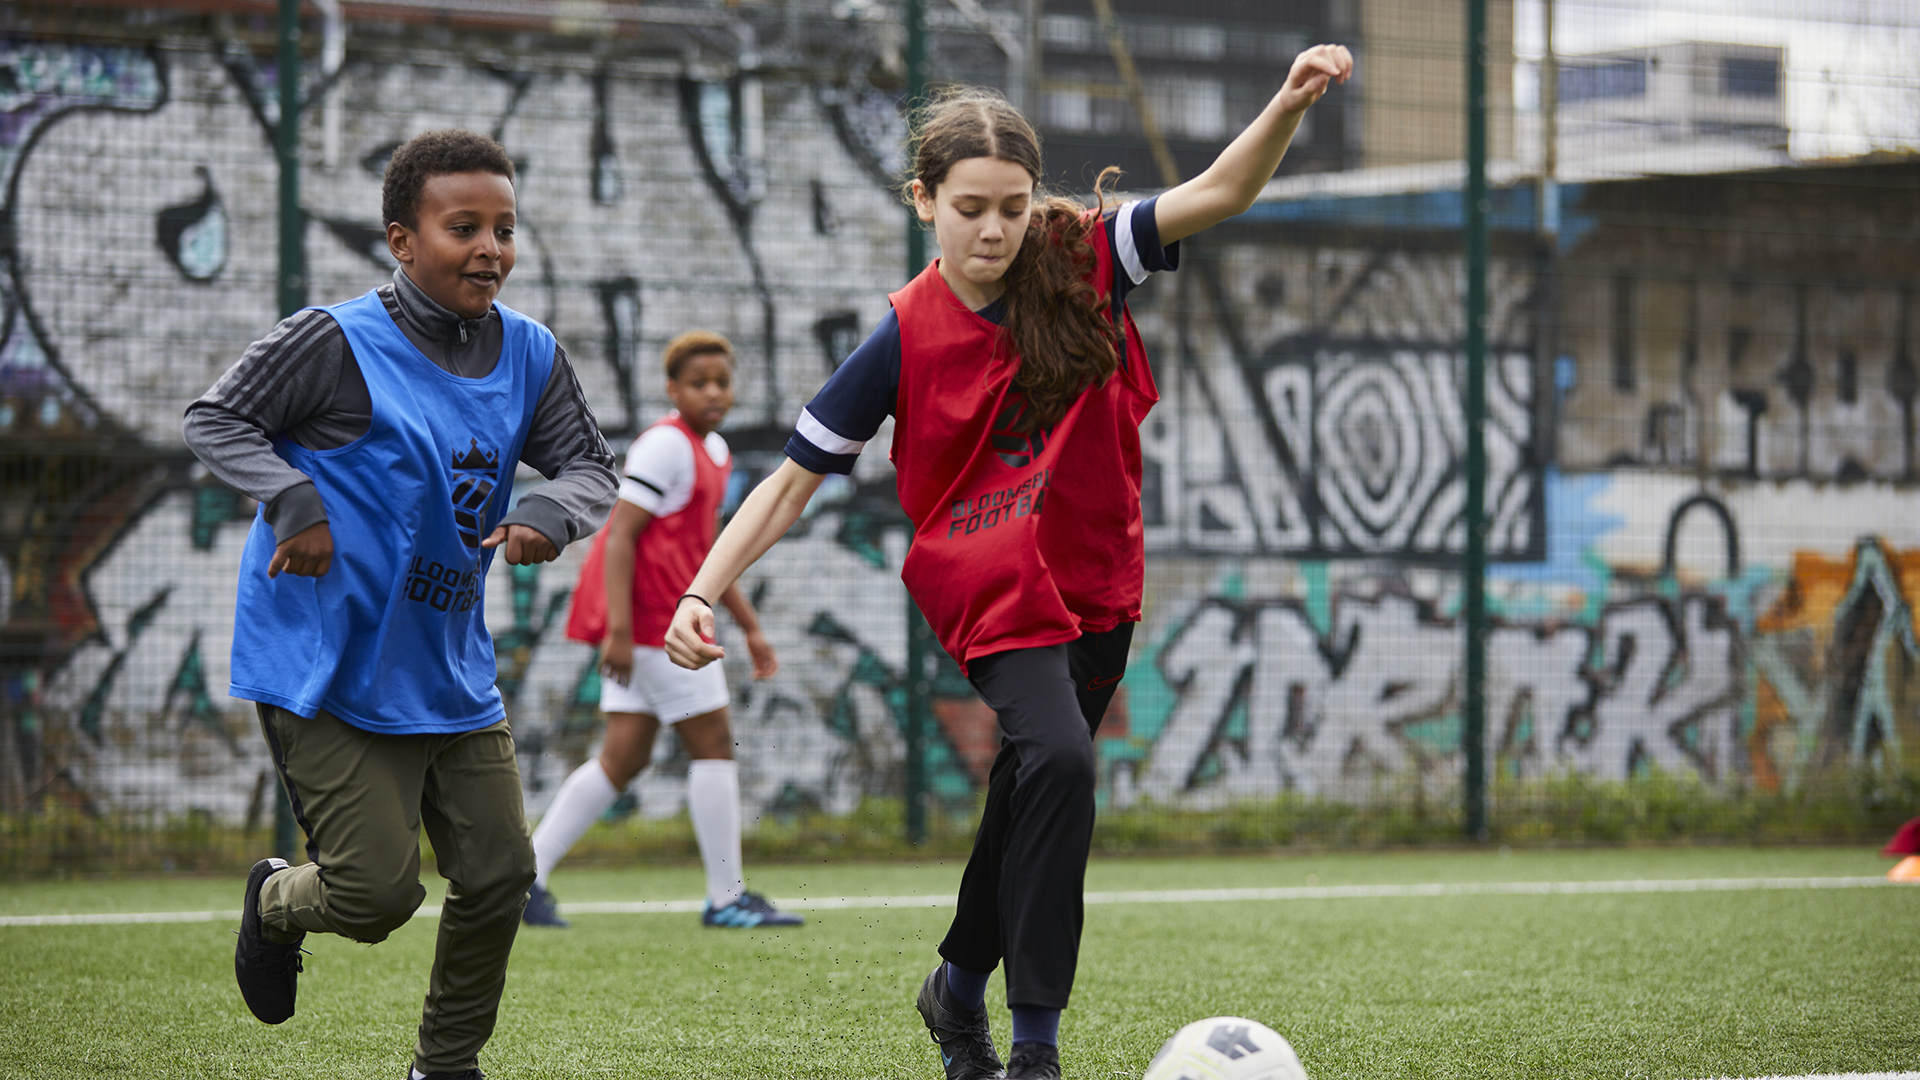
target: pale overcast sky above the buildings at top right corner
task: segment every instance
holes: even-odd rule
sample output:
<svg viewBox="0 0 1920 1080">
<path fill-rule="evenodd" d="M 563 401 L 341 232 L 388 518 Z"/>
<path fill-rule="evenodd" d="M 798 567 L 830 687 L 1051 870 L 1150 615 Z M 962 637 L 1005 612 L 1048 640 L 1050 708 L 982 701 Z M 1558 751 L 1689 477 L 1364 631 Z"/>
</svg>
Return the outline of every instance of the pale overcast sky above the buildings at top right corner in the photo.
<svg viewBox="0 0 1920 1080">
<path fill-rule="evenodd" d="M 1515 0 L 1513 46 L 1544 52 L 1546 0 Z M 1786 48 L 1793 156 L 1920 148 L 1920 0 L 1553 0 L 1561 56 L 1680 40 Z M 1521 106 L 1534 77 L 1517 77 Z"/>
</svg>

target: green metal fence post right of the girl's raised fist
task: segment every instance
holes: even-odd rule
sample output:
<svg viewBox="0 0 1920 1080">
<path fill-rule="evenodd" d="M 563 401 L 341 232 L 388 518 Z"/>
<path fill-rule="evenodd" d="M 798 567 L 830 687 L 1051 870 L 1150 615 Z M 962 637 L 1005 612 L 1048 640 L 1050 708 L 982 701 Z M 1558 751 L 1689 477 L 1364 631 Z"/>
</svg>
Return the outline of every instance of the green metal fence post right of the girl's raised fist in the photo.
<svg viewBox="0 0 1920 1080">
<path fill-rule="evenodd" d="M 1467 0 L 1467 838 L 1486 838 L 1486 0 Z"/>
</svg>

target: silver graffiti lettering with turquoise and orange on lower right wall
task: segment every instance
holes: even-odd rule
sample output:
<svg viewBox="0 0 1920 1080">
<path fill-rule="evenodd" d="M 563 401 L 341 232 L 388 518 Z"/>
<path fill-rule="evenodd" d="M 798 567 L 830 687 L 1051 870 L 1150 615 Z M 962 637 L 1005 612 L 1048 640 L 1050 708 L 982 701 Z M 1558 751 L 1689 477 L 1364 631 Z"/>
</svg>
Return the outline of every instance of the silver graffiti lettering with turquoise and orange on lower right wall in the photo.
<svg viewBox="0 0 1920 1080">
<path fill-rule="evenodd" d="M 1676 548 L 1705 548 L 1682 542 L 1692 505 L 1716 505 L 1728 532 L 1715 542 L 1738 552 L 1730 530 L 1753 500 L 1730 509 L 1690 496 L 1661 519 L 1649 503 L 1663 484 L 1638 480 L 1553 479 L 1555 557 L 1496 577 L 1507 588 L 1494 590 L 1488 636 L 1490 767 L 1509 778 L 1659 771 L 1766 792 L 1836 767 L 1912 767 L 1916 555 L 1868 536 L 1849 557 L 1803 553 L 1784 571 L 1743 571 L 1724 553 L 1680 567 Z M 1634 513 L 1590 528 L 1599 505 Z M 1597 557 L 1642 525 L 1665 532 L 1651 557 Z M 1129 675 L 1131 734 L 1104 748 L 1116 801 L 1283 790 L 1367 801 L 1407 782 L 1457 784 L 1457 603 L 1450 578 L 1392 567 L 1273 596 L 1229 575 L 1164 601 L 1171 611 L 1146 626 L 1148 667 Z"/>
</svg>

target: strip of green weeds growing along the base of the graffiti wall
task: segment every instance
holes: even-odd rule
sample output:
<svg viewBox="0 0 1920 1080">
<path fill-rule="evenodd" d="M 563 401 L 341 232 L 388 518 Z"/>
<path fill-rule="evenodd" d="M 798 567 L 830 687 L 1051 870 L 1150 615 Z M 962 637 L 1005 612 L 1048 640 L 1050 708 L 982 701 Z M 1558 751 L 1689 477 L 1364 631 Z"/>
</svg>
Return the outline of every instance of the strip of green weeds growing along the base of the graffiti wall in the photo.
<svg viewBox="0 0 1920 1080">
<path fill-rule="evenodd" d="M 1325 851 L 1465 844 L 1465 815 L 1452 794 L 1419 786 L 1382 792 L 1373 803 L 1300 794 L 1192 809 L 1142 799 L 1106 809 L 1094 824 L 1100 855 L 1194 855 L 1219 851 Z M 1576 774 L 1500 780 L 1486 798 L 1486 842 L 1526 846 L 1634 844 L 1878 844 L 1920 817 L 1920 774 L 1836 774 L 1786 794 L 1728 792 L 1668 774 L 1592 780 Z M 906 844 L 900 799 L 870 798 L 849 815 L 766 815 L 743 838 L 749 863 L 964 859 L 977 803 L 927 815 L 929 836 Z M 209 815 L 152 821 L 86 817 L 67 805 L 0 813 L 0 878 L 67 874 L 234 874 L 269 855 L 269 828 L 246 832 Z M 303 853 L 296 851 L 296 859 Z M 422 865 L 432 846 L 420 840 Z M 574 846 L 570 865 L 691 865 L 699 847 L 687 817 L 601 821 Z"/>
</svg>

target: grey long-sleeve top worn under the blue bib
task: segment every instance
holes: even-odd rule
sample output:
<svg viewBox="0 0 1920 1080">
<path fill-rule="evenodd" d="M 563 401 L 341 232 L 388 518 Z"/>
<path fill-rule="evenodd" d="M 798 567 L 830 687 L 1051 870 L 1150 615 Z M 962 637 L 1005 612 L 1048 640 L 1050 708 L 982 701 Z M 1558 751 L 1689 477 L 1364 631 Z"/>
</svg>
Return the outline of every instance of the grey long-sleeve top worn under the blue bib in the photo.
<svg viewBox="0 0 1920 1080">
<path fill-rule="evenodd" d="M 407 340 L 445 371 L 484 379 L 499 363 L 499 311 L 463 319 L 420 292 L 405 269 L 396 269 L 394 282 L 378 294 Z M 248 346 L 186 407 L 184 434 L 215 477 L 265 503 L 267 525 L 284 542 L 326 521 L 326 507 L 313 480 L 273 452 L 273 438 L 284 434 L 307 450 L 334 450 L 369 427 L 372 398 L 346 332 L 324 311 L 309 309 L 288 315 Z M 612 450 L 559 344 L 520 461 L 547 482 L 528 492 L 501 525 L 526 525 L 564 548 L 607 521 L 618 484 Z"/>
</svg>

